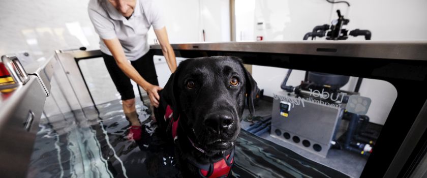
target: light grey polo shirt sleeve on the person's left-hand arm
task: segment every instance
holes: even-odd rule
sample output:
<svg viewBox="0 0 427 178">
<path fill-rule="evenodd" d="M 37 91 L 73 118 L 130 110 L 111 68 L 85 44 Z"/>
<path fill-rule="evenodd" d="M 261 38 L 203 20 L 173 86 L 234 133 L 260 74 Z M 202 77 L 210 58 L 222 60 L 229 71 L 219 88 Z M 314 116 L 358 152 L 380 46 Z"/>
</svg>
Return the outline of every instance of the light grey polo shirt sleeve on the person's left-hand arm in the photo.
<svg viewBox="0 0 427 178">
<path fill-rule="evenodd" d="M 94 24 L 95 32 L 104 40 L 116 38 L 113 23 L 95 9 L 88 8 L 90 21 Z"/>
</svg>

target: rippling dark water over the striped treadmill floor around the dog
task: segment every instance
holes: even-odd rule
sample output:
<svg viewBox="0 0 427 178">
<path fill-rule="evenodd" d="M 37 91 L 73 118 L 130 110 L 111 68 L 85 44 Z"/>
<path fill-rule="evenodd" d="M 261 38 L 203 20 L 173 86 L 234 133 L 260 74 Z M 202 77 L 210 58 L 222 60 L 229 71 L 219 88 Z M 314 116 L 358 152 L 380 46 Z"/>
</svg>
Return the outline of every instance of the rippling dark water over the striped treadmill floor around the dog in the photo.
<svg viewBox="0 0 427 178">
<path fill-rule="evenodd" d="M 44 118 L 28 177 L 179 177 L 173 146 L 164 142 L 137 105 L 142 138 L 128 139 L 118 101 Z M 149 112 L 149 111 L 148 111 Z M 244 130 L 236 142 L 230 177 L 347 177 Z"/>
</svg>

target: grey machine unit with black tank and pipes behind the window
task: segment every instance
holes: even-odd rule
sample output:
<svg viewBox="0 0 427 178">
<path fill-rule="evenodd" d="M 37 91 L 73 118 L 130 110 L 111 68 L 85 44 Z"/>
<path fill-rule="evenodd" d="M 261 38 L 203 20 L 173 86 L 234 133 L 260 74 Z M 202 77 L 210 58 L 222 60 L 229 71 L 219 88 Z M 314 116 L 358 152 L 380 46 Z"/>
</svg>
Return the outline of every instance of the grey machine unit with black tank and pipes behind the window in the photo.
<svg viewBox="0 0 427 178">
<path fill-rule="evenodd" d="M 371 99 L 340 90 L 349 76 L 307 72 L 299 86 L 287 86 L 291 71 L 281 85 L 283 91 L 273 94 L 270 135 L 322 157 L 331 146 L 369 156 L 378 138 L 378 133 L 366 130 Z M 342 120 L 349 124 L 339 139 Z"/>
</svg>

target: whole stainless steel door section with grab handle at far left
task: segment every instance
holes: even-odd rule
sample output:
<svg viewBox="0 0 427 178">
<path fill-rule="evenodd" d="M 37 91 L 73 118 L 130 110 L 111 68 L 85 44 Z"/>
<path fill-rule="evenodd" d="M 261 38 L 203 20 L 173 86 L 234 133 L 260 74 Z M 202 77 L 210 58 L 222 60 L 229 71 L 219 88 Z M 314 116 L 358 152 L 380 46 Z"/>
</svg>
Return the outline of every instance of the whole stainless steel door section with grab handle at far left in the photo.
<svg viewBox="0 0 427 178">
<path fill-rule="evenodd" d="M 24 177 L 49 95 L 55 61 L 30 60 L 31 63 L 23 67 L 15 55 L 10 57 L 16 62 L 14 65 L 20 73 L 18 79 L 22 78 L 22 82 L 18 81 L 13 91 L 0 93 L 0 158 L 4 160 L 0 163 L 0 174 L 2 177 Z M 7 60 L 6 63 L 11 64 Z"/>
</svg>

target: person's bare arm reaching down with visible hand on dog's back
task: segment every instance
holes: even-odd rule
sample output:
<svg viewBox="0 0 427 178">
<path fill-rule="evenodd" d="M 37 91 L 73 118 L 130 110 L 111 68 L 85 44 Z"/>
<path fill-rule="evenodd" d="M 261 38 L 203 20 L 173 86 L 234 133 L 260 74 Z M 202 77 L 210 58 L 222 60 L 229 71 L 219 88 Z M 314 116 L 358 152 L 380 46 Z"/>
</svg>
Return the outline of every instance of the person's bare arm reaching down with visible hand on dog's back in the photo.
<svg viewBox="0 0 427 178">
<path fill-rule="evenodd" d="M 110 50 L 111 54 L 113 54 L 117 66 L 121 69 L 121 71 L 123 71 L 129 78 L 140 85 L 147 92 L 151 104 L 158 107 L 160 99 L 158 91 L 162 90 L 162 88 L 160 86 L 150 84 L 144 78 L 142 78 L 141 75 L 139 75 L 136 69 L 128 62 L 125 51 L 123 51 L 123 48 L 121 47 L 121 44 L 117 38 L 113 38 L 111 40 L 103 39 L 103 41 Z M 173 57 L 175 57 L 175 55 L 173 55 Z"/>
</svg>

